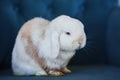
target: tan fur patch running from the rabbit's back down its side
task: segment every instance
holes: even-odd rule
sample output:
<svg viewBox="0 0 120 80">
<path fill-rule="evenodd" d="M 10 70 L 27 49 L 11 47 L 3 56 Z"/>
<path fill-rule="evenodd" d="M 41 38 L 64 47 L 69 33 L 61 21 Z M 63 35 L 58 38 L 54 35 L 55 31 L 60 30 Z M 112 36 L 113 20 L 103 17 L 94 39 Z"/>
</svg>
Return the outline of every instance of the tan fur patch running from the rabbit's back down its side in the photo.
<svg viewBox="0 0 120 80">
<path fill-rule="evenodd" d="M 40 28 L 40 32 L 41 32 L 40 37 L 43 38 L 44 37 L 44 30 L 43 29 L 45 28 L 45 26 L 47 24 L 48 24 L 47 21 L 35 18 L 35 19 L 32 19 L 32 20 L 26 22 L 19 32 L 20 36 L 21 36 L 21 39 L 27 41 L 27 45 L 25 46 L 26 53 L 32 59 L 34 59 L 43 69 L 45 68 L 45 64 L 44 64 L 45 59 L 43 57 L 38 56 L 39 50 L 38 50 L 37 46 L 34 45 L 33 42 L 32 42 L 32 32 L 35 29 Z M 40 27 L 40 26 L 42 26 L 42 27 Z"/>
</svg>

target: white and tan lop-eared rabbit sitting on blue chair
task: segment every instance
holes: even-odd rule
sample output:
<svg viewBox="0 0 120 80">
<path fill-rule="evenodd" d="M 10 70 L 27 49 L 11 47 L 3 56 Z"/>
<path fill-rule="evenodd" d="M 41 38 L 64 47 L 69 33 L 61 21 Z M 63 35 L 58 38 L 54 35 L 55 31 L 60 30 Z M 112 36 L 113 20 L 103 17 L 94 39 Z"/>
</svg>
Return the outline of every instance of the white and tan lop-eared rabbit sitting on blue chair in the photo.
<svg viewBox="0 0 120 80">
<path fill-rule="evenodd" d="M 77 49 L 86 45 L 84 25 L 60 15 L 52 21 L 35 17 L 18 32 L 12 52 L 15 75 L 62 76 Z"/>
</svg>

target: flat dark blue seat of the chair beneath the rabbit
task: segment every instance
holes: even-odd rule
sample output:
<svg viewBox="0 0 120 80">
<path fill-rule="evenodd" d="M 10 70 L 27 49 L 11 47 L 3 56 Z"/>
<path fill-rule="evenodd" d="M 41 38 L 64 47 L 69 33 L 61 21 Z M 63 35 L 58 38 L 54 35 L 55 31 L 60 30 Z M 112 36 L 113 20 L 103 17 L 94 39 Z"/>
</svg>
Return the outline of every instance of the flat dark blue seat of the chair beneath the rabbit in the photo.
<svg viewBox="0 0 120 80">
<path fill-rule="evenodd" d="M 115 66 L 71 66 L 71 74 L 61 77 L 13 76 L 11 70 L 0 72 L 1 80 L 120 80 L 120 68 Z"/>
</svg>

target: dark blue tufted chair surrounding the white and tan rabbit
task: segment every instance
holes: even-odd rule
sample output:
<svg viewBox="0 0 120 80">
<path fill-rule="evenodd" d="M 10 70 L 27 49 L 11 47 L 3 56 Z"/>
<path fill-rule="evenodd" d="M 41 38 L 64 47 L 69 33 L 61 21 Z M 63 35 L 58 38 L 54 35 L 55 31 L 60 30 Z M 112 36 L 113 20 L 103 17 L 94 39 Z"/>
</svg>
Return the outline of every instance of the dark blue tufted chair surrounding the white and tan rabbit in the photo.
<svg viewBox="0 0 120 80">
<path fill-rule="evenodd" d="M 20 27 L 34 17 L 69 15 L 82 21 L 86 47 L 61 77 L 15 76 L 11 53 Z M 0 80 L 120 80 L 120 8 L 117 0 L 0 0 Z"/>
</svg>

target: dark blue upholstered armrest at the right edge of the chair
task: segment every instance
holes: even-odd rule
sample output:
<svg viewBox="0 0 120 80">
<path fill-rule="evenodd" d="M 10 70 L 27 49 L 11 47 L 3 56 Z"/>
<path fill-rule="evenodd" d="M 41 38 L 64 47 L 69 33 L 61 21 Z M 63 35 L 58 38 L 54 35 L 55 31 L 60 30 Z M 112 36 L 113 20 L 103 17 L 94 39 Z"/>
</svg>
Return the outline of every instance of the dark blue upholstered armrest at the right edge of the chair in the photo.
<svg viewBox="0 0 120 80">
<path fill-rule="evenodd" d="M 120 66 L 120 7 L 115 7 L 109 17 L 107 29 L 107 55 L 110 64 Z"/>
</svg>

